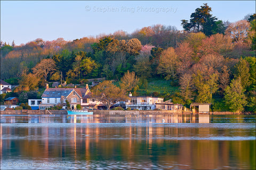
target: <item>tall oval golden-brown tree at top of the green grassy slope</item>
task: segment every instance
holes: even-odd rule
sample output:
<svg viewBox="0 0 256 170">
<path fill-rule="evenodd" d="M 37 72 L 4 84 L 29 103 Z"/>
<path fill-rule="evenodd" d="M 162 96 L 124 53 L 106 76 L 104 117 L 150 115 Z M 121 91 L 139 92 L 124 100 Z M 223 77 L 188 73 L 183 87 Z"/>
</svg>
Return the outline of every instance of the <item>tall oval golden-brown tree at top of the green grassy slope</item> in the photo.
<svg viewBox="0 0 256 170">
<path fill-rule="evenodd" d="M 158 74 L 164 74 L 166 80 L 174 81 L 176 78 L 178 56 L 174 52 L 174 48 L 169 47 L 163 50 L 160 58 L 159 65 L 157 67 Z"/>
</svg>

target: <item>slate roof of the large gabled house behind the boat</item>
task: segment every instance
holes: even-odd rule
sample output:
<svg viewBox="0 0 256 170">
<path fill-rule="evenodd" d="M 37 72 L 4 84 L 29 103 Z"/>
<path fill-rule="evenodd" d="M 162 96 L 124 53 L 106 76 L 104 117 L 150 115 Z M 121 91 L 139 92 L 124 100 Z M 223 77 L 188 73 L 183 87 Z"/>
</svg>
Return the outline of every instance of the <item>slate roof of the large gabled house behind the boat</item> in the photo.
<svg viewBox="0 0 256 170">
<path fill-rule="evenodd" d="M 60 98 L 61 96 L 67 97 L 73 90 L 77 92 L 81 98 L 83 95 L 85 95 L 85 92 L 87 89 L 82 89 L 82 88 L 49 88 L 45 89 L 42 98 L 43 97 L 55 97 L 55 98 Z"/>
</svg>

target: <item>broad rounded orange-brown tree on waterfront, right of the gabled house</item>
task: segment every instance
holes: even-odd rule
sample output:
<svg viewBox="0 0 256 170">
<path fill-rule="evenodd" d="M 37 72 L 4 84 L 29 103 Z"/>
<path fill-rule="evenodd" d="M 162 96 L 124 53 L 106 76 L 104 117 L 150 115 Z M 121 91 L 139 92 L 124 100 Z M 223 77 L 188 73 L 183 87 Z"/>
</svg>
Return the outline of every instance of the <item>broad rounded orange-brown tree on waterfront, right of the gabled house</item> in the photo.
<svg viewBox="0 0 256 170">
<path fill-rule="evenodd" d="M 125 91 L 116 87 L 111 81 L 105 80 L 92 89 L 92 97 L 106 105 L 107 109 L 118 101 L 128 99 Z"/>
</svg>

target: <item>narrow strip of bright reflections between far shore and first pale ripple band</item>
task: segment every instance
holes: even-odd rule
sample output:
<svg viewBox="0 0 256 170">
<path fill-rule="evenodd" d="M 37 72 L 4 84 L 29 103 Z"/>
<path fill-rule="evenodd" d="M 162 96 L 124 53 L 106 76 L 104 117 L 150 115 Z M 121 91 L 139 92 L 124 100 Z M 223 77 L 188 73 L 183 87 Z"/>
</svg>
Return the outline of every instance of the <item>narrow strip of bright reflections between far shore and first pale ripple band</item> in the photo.
<svg viewBox="0 0 256 170">
<path fill-rule="evenodd" d="M 1 123 L 250 123 L 255 115 L 1 115 Z"/>
</svg>

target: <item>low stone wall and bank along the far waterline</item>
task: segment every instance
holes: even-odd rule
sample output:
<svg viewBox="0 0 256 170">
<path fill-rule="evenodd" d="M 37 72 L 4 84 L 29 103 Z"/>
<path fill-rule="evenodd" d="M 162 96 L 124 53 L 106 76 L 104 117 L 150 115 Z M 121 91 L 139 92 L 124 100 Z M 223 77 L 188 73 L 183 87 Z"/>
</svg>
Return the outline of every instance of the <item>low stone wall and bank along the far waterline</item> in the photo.
<svg viewBox="0 0 256 170">
<path fill-rule="evenodd" d="M 94 110 L 92 111 L 94 115 L 190 115 L 192 113 L 185 112 L 185 111 L 106 111 L 106 110 Z M 39 111 L 39 110 L 6 110 L 6 111 L 1 111 L 2 115 L 67 115 L 68 112 L 66 110 L 44 110 L 44 111 Z M 202 113 L 202 114 L 207 114 L 209 113 Z M 244 112 L 244 113 L 237 113 L 237 112 L 210 112 L 210 115 L 253 115 L 252 113 L 249 112 Z"/>
</svg>

